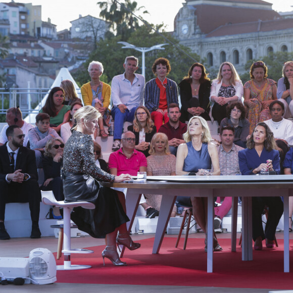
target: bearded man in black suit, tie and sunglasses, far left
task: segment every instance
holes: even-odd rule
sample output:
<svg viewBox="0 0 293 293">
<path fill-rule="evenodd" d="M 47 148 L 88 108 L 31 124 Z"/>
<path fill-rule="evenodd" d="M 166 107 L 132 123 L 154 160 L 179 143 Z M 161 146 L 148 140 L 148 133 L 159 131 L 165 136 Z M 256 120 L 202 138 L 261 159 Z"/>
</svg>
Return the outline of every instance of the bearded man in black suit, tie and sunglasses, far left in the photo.
<svg viewBox="0 0 293 293">
<path fill-rule="evenodd" d="M 32 220 L 31 238 L 40 238 L 38 221 L 41 193 L 38 186 L 34 151 L 23 146 L 24 134 L 19 126 L 6 130 L 8 142 L 0 146 L 0 239 L 10 236 L 4 225 L 6 203 L 29 203 Z"/>
</svg>

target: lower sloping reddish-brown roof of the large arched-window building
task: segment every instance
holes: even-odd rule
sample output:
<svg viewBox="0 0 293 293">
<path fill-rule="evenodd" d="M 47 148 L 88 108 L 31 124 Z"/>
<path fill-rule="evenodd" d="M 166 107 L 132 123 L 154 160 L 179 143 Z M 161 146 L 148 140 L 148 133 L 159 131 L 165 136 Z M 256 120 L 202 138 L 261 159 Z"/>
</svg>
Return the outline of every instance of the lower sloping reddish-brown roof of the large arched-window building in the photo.
<svg viewBox="0 0 293 293">
<path fill-rule="evenodd" d="M 237 23 L 237 24 L 226 24 L 220 26 L 214 31 L 206 35 L 206 37 L 218 37 L 224 35 L 235 35 L 242 33 L 253 33 L 253 32 L 267 32 L 273 30 L 284 30 L 293 29 L 293 19 L 274 19 L 266 21 L 254 21 L 247 23 Z"/>
</svg>

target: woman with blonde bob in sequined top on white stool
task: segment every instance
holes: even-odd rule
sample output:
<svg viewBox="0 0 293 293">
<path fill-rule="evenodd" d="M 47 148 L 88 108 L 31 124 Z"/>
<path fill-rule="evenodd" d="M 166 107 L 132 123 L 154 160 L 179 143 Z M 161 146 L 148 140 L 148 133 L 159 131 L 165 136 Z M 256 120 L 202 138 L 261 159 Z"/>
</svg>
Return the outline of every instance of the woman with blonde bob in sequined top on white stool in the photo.
<svg viewBox="0 0 293 293">
<path fill-rule="evenodd" d="M 116 241 L 129 250 L 138 249 L 140 244 L 134 243 L 127 231 L 126 222 L 129 219 L 124 193 L 100 187 L 99 181 L 122 182 L 131 179 L 131 176 L 111 175 L 96 166 L 91 134 L 98 127 L 100 117 L 99 111 L 92 106 L 84 106 L 74 114 L 76 126 L 65 145 L 63 156 L 64 196 L 67 202 L 95 204 L 94 212 L 75 208 L 71 218 L 80 230 L 92 237 L 107 238 L 107 247 L 102 253 L 104 265 L 106 257 L 116 266 L 125 266 L 126 263 L 121 262 L 118 256 Z"/>
</svg>

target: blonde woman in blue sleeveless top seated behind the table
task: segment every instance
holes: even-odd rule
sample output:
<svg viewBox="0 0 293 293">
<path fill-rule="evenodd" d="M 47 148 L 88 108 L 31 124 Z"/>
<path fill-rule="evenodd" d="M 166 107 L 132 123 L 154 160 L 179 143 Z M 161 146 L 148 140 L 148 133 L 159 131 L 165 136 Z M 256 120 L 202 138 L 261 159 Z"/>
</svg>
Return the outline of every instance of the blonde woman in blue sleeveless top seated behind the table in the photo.
<svg viewBox="0 0 293 293">
<path fill-rule="evenodd" d="M 207 121 L 200 116 L 190 118 L 187 132 L 183 134 L 186 143 L 178 146 L 176 175 L 205 175 L 205 169 L 213 169 L 211 175 L 220 175 L 217 147 L 211 142 Z M 205 252 L 207 252 L 208 199 L 191 198 L 194 219 L 206 233 Z M 214 251 L 222 251 L 214 232 Z"/>
</svg>

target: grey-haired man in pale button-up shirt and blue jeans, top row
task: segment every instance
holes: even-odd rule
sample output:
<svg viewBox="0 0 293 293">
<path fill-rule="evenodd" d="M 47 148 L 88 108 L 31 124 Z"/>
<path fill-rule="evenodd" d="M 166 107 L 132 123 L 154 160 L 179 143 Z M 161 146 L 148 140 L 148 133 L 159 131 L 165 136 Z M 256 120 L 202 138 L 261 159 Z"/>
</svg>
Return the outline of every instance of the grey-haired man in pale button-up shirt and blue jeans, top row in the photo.
<svg viewBox="0 0 293 293">
<path fill-rule="evenodd" d="M 126 57 L 123 67 L 125 73 L 116 75 L 111 84 L 111 100 L 113 108 L 111 115 L 114 119 L 114 143 L 112 152 L 121 147 L 121 135 L 125 121 L 133 122 L 134 113 L 143 104 L 144 77 L 136 74 L 138 59 L 134 56 Z"/>
</svg>

